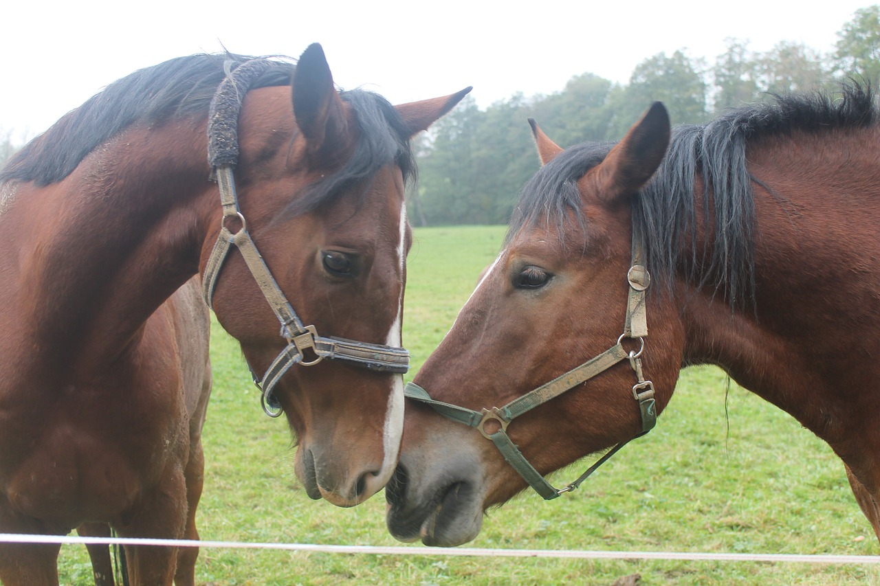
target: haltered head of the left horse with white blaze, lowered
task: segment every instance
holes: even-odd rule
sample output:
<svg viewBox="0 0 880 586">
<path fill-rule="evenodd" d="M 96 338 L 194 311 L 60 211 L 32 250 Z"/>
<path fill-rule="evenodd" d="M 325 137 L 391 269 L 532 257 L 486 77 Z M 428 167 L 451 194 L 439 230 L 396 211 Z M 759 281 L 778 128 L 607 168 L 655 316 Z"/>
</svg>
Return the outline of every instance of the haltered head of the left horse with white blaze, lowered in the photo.
<svg viewBox="0 0 880 586">
<path fill-rule="evenodd" d="M 261 380 L 268 413 L 283 411 L 297 436 L 297 476 L 312 498 L 363 502 L 396 465 L 409 140 L 469 89 L 396 107 L 370 92 L 337 92 L 312 45 L 290 86 L 243 100 L 226 186 L 238 203 L 205 241 L 202 273 L 217 319 Z M 234 243 L 240 254 L 216 253 L 218 238 L 244 233 L 249 243 Z M 260 264 L 265 271 L 253 268 Z"/>
</svg>

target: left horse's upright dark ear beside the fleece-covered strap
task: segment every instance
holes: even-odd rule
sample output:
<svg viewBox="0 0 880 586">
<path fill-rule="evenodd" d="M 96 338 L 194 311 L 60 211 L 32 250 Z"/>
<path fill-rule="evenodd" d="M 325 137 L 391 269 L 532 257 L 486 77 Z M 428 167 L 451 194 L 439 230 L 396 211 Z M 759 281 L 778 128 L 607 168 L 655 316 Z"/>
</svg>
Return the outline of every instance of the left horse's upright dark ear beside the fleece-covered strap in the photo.
<svg viewBox="0 0 880 586">
<path fill-rule="evenodd" d="M 305 48 L 293 73 L 293 115 L 312 153 L 346 141 L 348 121 L 336 92 L 324 49 L 318 43 Z"/>
</svg>

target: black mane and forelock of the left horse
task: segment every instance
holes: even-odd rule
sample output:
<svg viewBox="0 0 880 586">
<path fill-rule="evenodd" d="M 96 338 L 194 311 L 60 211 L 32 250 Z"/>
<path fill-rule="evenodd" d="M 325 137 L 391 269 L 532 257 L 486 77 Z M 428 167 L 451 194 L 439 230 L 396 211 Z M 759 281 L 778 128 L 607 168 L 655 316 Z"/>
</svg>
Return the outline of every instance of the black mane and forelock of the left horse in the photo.
<svg viewBox="0 0 880 586">
<path fill-rule="evenodd" d="M 19 150 L 0 169 L 0 183 L 33 181 L 44 187 L 67 177 L 92 150 L 134 124 L 158 123 L 172 117 L 207 117 L 211 99 L 227 72 L 252 59 L 228 53 L 190 55 L 137 70 L 62 116 Z M 251 89 L 290 84 L 294 64 L 273 63 Z M 362 90 L 341 92 L 341 98 L 355 110 L 361 131 L 355 153 L 343 169 L 293 201 L 288 213 L 316 209 L 357 184 L 364 186 L 365 193 L 372 175 L 388 163 L 396 162 L 405 180 L 414 175 L 409 132 L 396 108 L 378 94 Z"/>
</svg>

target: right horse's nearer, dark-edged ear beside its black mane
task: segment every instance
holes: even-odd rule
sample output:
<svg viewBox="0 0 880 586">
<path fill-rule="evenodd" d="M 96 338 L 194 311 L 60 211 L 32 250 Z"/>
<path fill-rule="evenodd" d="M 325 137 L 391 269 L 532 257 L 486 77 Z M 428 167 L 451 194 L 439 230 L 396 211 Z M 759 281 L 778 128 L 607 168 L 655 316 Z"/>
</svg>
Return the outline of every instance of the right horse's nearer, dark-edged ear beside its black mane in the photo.
<svg viewBox="0 0 880 586">
<path fill-rule="evenodd" d="M 605 200 L 628 198 L 648 183 L 666 155 L 669 139 L 669 114 L 662 103 L 654 102 L 599 166 Z"/>
</svg>

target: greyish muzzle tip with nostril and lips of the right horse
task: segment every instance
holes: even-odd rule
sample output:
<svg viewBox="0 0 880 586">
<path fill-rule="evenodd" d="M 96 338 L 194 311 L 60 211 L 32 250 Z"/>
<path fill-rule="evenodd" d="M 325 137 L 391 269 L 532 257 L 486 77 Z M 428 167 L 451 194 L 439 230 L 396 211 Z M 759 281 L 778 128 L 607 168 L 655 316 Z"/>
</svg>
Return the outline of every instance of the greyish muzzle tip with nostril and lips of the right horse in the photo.
<svg viewBox="0 0 880 586">
<path fill-rule="evenodd" d="M 457 481 L 441 487 L 422 502 L 407 502 L 406 472 L 395 472 L 385 487 L 385 520 L 388 531 L 399 541 L 422 539 L 426 546 L 453 547 L 480 533 L 483 510 L 480 491 L 473 482 Z M 401 479 L 403 477 L 403 479 Z"/>
</svg>

